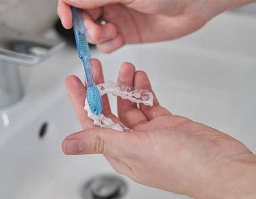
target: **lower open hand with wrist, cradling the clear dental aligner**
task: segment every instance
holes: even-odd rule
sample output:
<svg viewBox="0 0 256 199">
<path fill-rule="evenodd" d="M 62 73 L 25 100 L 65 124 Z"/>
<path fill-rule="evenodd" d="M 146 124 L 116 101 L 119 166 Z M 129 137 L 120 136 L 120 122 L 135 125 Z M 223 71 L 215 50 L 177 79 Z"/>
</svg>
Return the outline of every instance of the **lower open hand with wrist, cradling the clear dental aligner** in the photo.
<svg viewBox="0 0 256 199">
<path fill-rule="evenodd" d="M 100 61 L 91 60 L 96 84 L 104 82 Z M 147 74 L 123 63 L 118 82 L 152 91 Z M 108 97 L 102 96 L 102 113 L 133 132 L 93 125 L 84 111 L 86 87 L 76 76 L 65 85 L 82 131 L 67 136 L 67 155 L 103 154 L 115 171 L 137 183 L 195 198 L 255 198 L 256 156 L 224 132 L 173 115 L 160 106 L 146 106 L 118 97 L 118 117 Z"/>
</svg>

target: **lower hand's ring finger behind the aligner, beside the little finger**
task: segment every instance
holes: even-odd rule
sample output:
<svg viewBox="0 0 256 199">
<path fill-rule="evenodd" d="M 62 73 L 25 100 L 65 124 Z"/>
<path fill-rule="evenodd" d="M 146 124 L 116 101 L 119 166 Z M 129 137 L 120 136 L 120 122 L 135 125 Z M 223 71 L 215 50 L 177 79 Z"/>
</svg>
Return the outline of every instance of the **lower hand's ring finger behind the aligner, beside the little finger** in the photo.
<svg viewBox="0 0 256 199">
<path fill-rule="evenodd" d="M 134 65 L 130 63 L 123 63 L 119 71 L 117 84 L 129 87 L 134 86 L 134 74 Z M 138 109 L 137 103 L 133 103 L 128 99 L 118 97 L 117 110 L 122 123 L 130 128 L 138 125 L 138 123 L 147 122 L 145 115 Z"/>
</svg>

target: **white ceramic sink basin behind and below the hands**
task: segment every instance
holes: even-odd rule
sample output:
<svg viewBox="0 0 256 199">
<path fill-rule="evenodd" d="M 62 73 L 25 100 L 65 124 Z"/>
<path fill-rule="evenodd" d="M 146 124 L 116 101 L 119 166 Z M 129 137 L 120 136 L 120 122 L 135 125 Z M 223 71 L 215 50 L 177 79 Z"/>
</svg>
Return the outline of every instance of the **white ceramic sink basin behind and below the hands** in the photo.
<svg viewBox="0 0 256 199">
<path fill-rule="evenodd" d="M 255 24 L 256 18 L 225 13 L 181 39 L 130 45 L 111 55 L 94 49 L 92 57 L 101 60 L 106 81 L 116 80 L 124 61 L 133 63 L 173 114 L 224 131 L 255 153 Z M 23 99 L 0 110 L 0 198 L 82 198 L 90 177 L 109 173 L 126 182 L 123 198 L 186 197 L 134 183 L 102 155 L 63 154 L 62 140 L 81 130 L 64 88 L 69 74 L 84 79 L 75 47 L 21 72 Z M 115 98 L 110 101 L 116 113 Z"/>
</svg>

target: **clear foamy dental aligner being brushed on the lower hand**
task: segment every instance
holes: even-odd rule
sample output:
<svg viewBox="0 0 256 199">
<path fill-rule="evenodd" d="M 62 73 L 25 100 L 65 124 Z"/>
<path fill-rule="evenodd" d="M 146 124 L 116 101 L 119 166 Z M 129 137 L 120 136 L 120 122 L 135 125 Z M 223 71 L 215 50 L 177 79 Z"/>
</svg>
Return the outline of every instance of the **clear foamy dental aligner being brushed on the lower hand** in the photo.
<svg viewBox="0 0 256 199">
<path fill-rule="evenodd" d="M 113 96 L 119 96 L 122 99 L 129 99 L 131 102 L 143 103 L 144 105 L 153 105 L 153 95 L 150 90 L 141 90 L 134 87 L 127 87 L 124 85 L 117 85 L 113 81 L 108 81 L 97 85 L 101 96 L 106 93 L 112 93 Z M 105 117 L 104 114 L 94 115 L 89 108 L 87 98 L 85 99 L 85 107 L 88 117 L 93 119 L 93 123 L 96 126 L 113 128 L 118 131 L 132 132 L 130 128 L 127 128 L 122 123 L 114 123 L 112 119 Z"/>
</svg>

